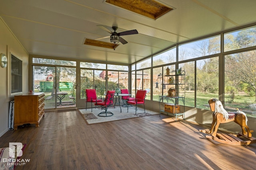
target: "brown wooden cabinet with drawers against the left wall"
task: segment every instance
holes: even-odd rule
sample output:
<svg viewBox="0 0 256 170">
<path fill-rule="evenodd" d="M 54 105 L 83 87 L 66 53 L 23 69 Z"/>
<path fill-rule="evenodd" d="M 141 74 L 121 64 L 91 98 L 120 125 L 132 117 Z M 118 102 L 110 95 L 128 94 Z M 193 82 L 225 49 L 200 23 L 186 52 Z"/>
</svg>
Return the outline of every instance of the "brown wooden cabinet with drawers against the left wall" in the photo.
<svg viewBox="0 0 256 170">
<path fill-rule="evenodd" d="M 26 93 L 14 96 L 14 129 L 23 124 L 36 124 L 44 116 L 44 93 Z"/>
</svg>

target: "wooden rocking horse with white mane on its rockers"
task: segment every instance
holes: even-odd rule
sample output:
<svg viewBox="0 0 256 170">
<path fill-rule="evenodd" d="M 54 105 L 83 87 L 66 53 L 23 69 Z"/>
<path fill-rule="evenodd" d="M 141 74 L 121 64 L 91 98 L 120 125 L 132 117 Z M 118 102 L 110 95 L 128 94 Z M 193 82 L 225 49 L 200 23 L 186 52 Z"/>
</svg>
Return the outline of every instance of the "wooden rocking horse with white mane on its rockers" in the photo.
<svg viewBox="0 0 256 170">
<path fill-rule="evenodd" d="M 199 130 L 202 133 L 206 133 L 206 138 L 212 139 L 219 143 L 225 143 L 229 145 L 249 145 L 256 143 L 256 138 L 252 137 L 252 130 L 247 125 L 246 114 L 240 110 L 236 112 L 227 112 L 222 103 L 218 99 L 210 99 L 208 101 L 212 113 L 212 126 L 211 129 Z M 220 123 L 228 123 L 234 121 L 242 128 L 242 133 L 238 134 L 226 134 L 217 133 Z"/>
</svg>

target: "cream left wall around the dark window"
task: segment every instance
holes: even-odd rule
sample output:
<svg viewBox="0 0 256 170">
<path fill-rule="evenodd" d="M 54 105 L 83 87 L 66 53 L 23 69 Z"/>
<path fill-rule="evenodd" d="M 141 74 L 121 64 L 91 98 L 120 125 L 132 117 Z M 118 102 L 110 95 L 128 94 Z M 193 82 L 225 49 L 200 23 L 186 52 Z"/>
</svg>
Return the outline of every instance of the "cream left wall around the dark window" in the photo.
<svg viewBox="0 0 256 170">
<path fill-rule="evenodd" d="M 28 59 L 29 55 L 20 42 L 10 31 L 9 27 L 0 17 L 0 53 L 4 53 L 8 58 L 8 66 L 0 66 L 0 137 L 8 131 L 8 113 L 10 101 L 14 96 L 10 96 L 10 54 L 22 60 L 22 91 L 28 92 Z"/>
</svg>

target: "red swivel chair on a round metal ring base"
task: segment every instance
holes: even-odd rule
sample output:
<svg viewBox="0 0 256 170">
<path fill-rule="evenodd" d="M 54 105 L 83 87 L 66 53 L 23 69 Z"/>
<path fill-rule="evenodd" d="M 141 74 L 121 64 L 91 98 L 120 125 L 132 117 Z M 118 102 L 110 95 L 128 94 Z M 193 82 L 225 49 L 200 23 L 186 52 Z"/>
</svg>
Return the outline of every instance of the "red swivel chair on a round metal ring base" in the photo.
<svg viewBox="0 0 256 170">
<path fill-rule="evenodd" d="M 109 106 L 113 105 L 113 100 L 114 100 L 114 95 L 115 95 L 115 90 L 109 91 L 106 94 L 106 98 L 104 100 L 104 102 L 100 102 L 100 103 L 95 103 L 95 106 L 101 106 L 101 109 L 105 109 L 105 111 L 102 111 L 98 114 L 98 116 L 101 117 L 108 117 L 108 116 L 112 116 L 113 113 L 111 111 L 107 111 Z"/>
</svg>

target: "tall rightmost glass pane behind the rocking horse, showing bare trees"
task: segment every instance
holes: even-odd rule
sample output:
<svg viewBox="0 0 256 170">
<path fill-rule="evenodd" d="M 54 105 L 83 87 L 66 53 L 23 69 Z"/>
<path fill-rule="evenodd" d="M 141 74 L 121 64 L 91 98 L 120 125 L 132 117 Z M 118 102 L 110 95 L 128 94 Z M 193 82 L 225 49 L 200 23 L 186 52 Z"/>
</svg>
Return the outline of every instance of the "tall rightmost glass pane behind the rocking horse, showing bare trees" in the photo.
<svg viewBox="0 0 256 170">
<path fill-rule="evenodd" d="M 224 108 L 256 117 L 256 50 L 225 56 Z"/>
</svg>

